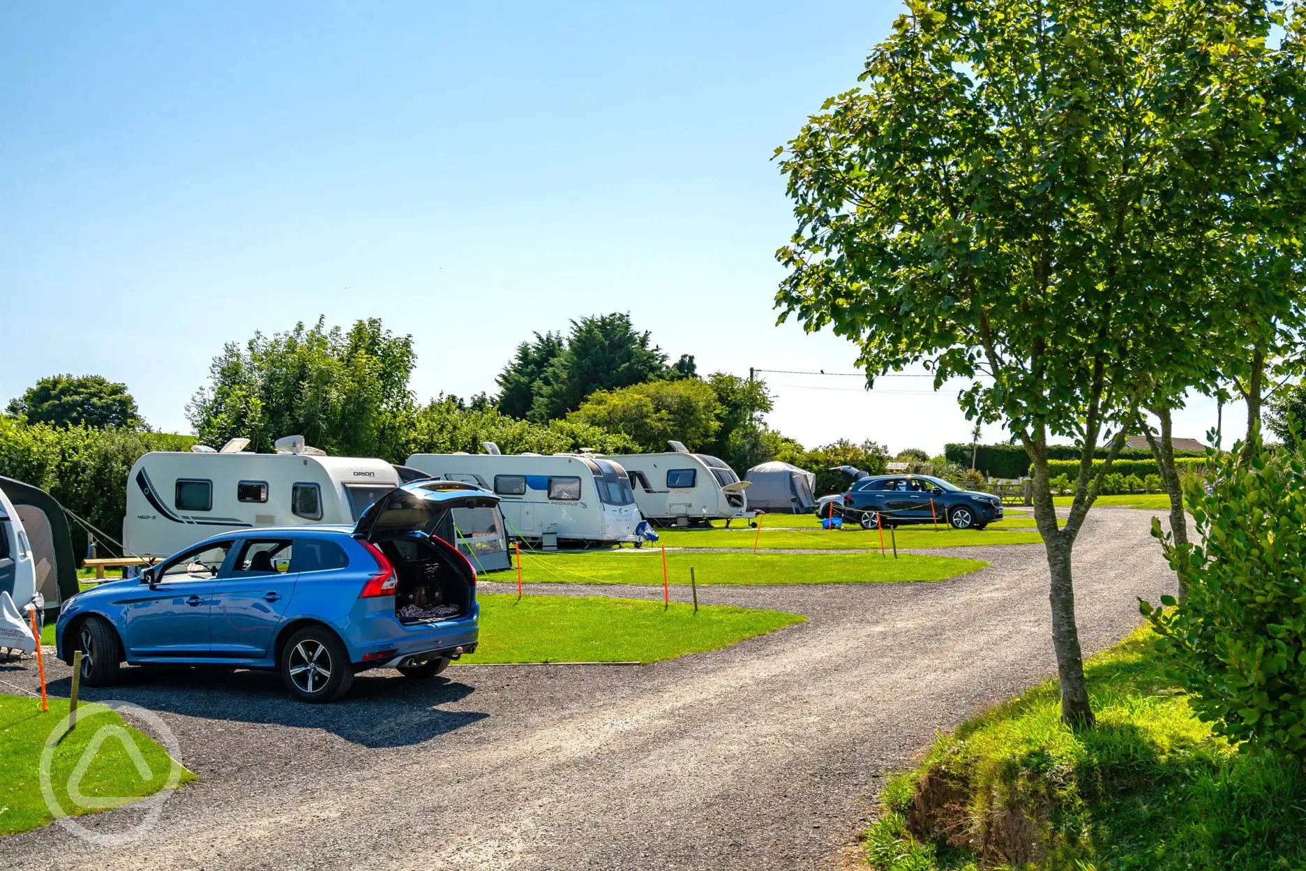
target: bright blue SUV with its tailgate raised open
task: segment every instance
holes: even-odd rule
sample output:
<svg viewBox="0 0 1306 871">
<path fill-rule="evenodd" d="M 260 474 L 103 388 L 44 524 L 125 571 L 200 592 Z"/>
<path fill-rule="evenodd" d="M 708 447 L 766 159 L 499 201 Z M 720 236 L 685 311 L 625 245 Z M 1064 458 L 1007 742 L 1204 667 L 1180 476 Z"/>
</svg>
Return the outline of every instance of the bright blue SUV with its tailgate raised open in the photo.
<svg viewBox="0 0 1306 871">
<path fill-rule="evenodd" d="M 213 535 L 64 602 L 59 658 L 111 684 L 119 666 L 187 665 L 281 673 L 304 701 L 343 696 L 354 674 L 393 666 L 440 674 L 477 648 L 477 572 L 452 512 L 499 498 L 453 481 L 418 481 L 347 526 L 249 528 Z M 443 535 L 443 537 L 441 537 Z"/>
</svg>

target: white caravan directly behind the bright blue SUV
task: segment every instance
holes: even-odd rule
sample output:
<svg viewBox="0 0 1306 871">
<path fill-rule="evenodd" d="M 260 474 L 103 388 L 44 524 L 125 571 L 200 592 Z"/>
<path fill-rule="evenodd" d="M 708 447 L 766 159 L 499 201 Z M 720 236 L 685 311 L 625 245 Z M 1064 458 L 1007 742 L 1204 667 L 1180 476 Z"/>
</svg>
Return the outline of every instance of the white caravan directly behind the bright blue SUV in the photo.
<svg viewBox="0 0 1306 871">
<path fill-rule="evenodd" d="M 146 453 L 127 479 L 123 546 L 137 556 L 168 556 L 225 529 L 303 524 L 353 525 L 400 486 L 384 460 L 328 457 L 303 439 L 277 441 L 277 453 L 243 451 Z"/>
</svg>

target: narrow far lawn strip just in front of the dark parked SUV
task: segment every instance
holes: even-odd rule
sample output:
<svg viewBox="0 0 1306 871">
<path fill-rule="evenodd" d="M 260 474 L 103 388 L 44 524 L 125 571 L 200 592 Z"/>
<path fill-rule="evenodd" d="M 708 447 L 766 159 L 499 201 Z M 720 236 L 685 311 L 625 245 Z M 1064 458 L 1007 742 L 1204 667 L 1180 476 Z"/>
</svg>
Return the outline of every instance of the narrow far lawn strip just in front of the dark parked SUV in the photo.
<svg viewBox="0 0 1306 871">
<path fill-rule="evenodd" d="M 844 529 L 660 529 L 658 537 L 667 547 L 739 547 L 752 550 L 754 539 L 759 548 L 820 548 L 820 550 L 868 550 L 880 547 L 880 531 L 863 530 L 849 524 Z M 940 525 L 900 526 L 896 533 L 899 547 L 973 547 L 980 545 L 1028 545 L 1042 542 L 1034 529 L 952 529 Z M 884 530 L 884 546 L 891 543 L 888 530 Z"/>
</svg>

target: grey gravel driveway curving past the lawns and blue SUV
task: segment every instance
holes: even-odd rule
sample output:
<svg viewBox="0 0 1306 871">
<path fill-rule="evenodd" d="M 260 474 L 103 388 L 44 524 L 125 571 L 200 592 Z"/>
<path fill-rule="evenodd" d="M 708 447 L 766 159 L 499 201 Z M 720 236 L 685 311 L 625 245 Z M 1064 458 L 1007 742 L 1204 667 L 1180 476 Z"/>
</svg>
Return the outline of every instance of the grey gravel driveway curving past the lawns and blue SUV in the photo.
<svg viewBox="0 0 1306 871">
<path fill-rule="evenodd" d="M 1075 548 L 1087 652 L 1139 623 L 1135 597 L 1173 588 L 1149 517 L 1089 515 Z M 0 867 L 828 867 L 884 772 L 1054 667 L 1042 547 L 946 552 L 993 565 L 936 584 L 700 588 L 705 603 L 810 620 L 653 666 L 454 666 L 426 683 L 376 671 L 319 706 L 274 675 L 128 669 L 85 696 L 161 712 L 200 782 L 137 844 L 50 825 L 0 840 Z M 33 671 L 0 667 L 0 680 L 31 686 Z M 67 678 L 56 663 L 54 693 Z M 133 814 L 84 823 L 110 832 Z"/>
</svg>

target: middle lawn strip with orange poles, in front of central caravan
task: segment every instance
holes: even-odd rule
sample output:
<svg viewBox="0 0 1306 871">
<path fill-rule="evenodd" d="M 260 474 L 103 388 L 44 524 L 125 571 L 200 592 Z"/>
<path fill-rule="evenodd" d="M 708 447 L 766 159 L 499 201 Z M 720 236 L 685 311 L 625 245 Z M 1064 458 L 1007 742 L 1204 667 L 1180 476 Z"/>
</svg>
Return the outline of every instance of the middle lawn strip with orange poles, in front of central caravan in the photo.
<svg viewBox="0 0 1306 871">
<path fill-rule="evenodd" d="M 978 571 L 987 563 L 952 556 L 902 554 L 704 554 L 671 551 L 667 580 L 688 584 L 690 567 L 701 584 L 884 584 L 944 581 Z M 512 581 L 511 572 L 495 580 Z M 522 554 L 522 580 L 564 584 L 662 584 L 662 560 L 656 548 L 622 554 Z"/>
</svg>

